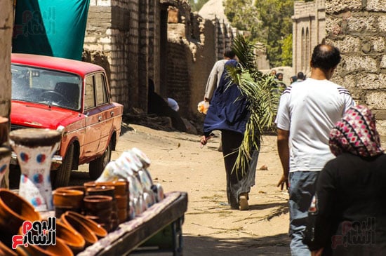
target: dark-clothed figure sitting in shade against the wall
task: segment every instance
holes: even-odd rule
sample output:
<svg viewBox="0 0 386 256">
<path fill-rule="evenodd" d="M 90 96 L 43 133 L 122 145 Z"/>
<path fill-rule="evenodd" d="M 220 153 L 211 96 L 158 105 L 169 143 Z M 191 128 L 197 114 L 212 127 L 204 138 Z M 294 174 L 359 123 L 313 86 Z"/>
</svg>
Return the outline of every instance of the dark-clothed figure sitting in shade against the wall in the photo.
<svg viewBox="0 0 386 256">
<path fill-rule="evenodd" d="M 158 116 L 168 116 L 174 128 L 186 132 L 186 126 L 180 114 L 169 107 L 168 102 L 154 91 L 154 81 L 149 79 L 149 92 L 147 95 L 147 113 Z"/>
</svg>

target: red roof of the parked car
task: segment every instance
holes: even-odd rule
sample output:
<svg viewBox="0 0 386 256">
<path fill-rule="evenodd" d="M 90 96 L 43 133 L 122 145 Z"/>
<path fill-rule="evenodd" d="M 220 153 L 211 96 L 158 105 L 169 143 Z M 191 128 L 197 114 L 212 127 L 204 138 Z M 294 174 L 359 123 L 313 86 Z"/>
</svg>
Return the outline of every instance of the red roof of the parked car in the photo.
<svg viewBox="0 0 386 256">
<path fill-rule="evenodd" d="M 80 76 L 105 70 L 98 65 L 79 60 L 70 60 L 65 58 L 26 53 L 12 53 L 11 62 L 13 64 L 30 65 L 46 69 L 58 69 L 65 72 L 79 74 Z"/>
</svg>

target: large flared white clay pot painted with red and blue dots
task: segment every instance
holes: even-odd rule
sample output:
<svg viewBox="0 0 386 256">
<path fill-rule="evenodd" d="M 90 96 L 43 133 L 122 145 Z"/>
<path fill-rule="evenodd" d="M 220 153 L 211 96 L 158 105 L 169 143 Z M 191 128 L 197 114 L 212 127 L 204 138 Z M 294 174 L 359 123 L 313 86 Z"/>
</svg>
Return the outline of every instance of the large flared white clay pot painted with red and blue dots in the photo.
<svg viewBox="0 0 386 256">
<path fill-rule="evenodd" d="M 27 128 L 13 130 L 9 137 L 21 170 L 19 195 L 36 210 L 53 210 L 51 158 L 61 134 L 56 130 Z"/>
</svg>

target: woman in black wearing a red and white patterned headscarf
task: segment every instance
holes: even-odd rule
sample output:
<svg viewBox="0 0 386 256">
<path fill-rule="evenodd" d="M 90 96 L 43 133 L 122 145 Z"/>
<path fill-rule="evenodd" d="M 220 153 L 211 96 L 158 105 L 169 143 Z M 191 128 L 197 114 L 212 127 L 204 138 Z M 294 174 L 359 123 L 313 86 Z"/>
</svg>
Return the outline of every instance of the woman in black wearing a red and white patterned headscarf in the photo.
<svg viewBox="0 0 386 256">
<path fill-rule="evenodd" d="M 371 111 L 352 107 L 330 133 L 305 243 L 312 255 L 386 255 L 386 154 Z"/>
</svg>

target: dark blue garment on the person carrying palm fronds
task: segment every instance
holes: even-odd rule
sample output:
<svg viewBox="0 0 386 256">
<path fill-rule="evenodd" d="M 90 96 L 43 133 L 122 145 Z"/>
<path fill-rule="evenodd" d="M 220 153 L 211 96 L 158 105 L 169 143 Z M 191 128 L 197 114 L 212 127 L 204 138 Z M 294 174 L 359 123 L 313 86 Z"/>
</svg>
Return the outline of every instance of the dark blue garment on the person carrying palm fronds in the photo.
<svg viewBox="0 0 386 256">
<path fill-rule="evenodd" d="M 243 134 L 246 130 L 249 116 L 246 97 L 241 95 L 239 87 L 232 83 L 227 75 L 227 66 L 236 65 L 236 60 L 228 60 L 225 63 L 220 83 L 215 89 L 205 116 L 204 135 L 206 136 L 213 130 L 232 130 Z"/>
</svg>

